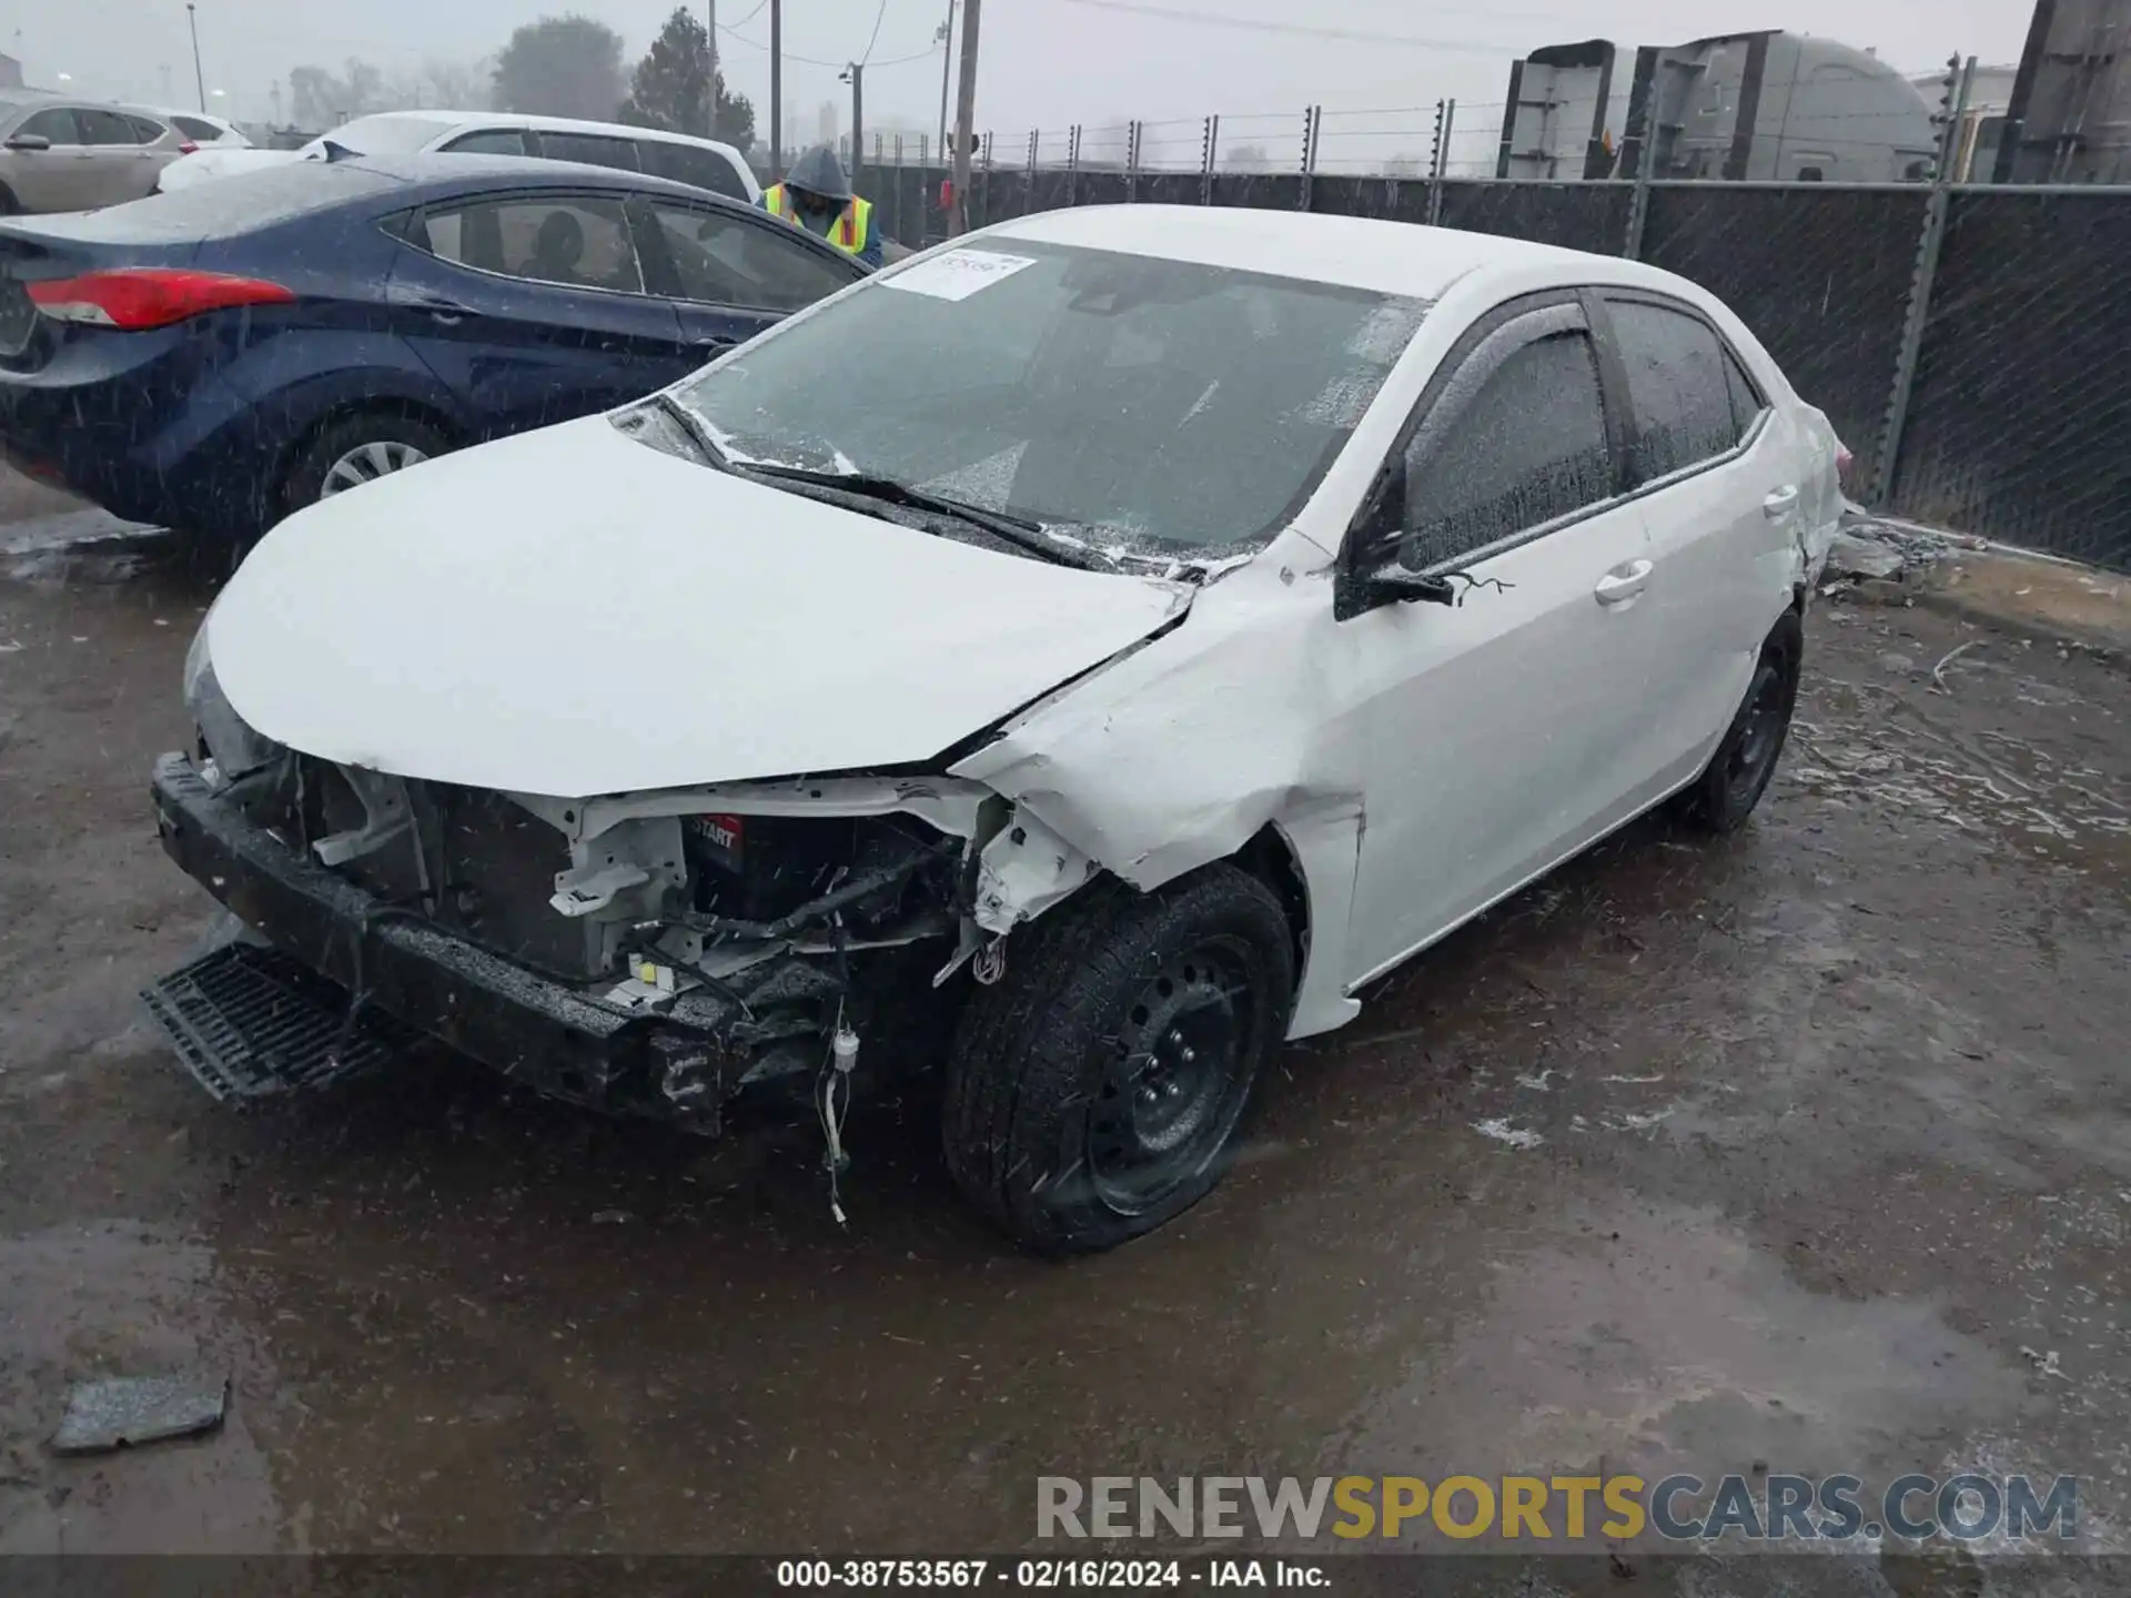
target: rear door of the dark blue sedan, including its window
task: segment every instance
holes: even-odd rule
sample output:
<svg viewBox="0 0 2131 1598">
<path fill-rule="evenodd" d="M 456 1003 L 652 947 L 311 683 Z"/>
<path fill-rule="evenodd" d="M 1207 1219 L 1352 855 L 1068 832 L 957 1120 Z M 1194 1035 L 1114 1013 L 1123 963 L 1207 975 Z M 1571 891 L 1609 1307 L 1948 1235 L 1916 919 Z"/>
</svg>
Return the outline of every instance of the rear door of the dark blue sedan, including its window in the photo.
<svg viewBox="0 0 2131 1598">
<path fill-rule="evenodd" d="M 484 437 L 622 405 L 695 364 L 673 305 L 646 292 L 618 192 L 450 200 L 405 239 L 392 324 Z"/>
</svg>

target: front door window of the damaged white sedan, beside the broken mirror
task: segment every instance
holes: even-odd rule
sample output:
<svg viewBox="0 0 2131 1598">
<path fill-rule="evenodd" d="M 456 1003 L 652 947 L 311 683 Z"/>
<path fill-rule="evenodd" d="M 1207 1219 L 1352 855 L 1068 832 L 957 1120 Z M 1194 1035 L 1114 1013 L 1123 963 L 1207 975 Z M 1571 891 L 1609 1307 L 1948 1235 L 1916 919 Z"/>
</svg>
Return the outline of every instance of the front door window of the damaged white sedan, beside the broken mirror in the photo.
<svg viewBox="0 0 2131 1598">
<path fill-rule="evenodd" d="M 1409 565 L 1441 565 L 1613 496 L 1598 360 L 1581 328 L 1515 349 L 1406 456 Z"/>
</svg>

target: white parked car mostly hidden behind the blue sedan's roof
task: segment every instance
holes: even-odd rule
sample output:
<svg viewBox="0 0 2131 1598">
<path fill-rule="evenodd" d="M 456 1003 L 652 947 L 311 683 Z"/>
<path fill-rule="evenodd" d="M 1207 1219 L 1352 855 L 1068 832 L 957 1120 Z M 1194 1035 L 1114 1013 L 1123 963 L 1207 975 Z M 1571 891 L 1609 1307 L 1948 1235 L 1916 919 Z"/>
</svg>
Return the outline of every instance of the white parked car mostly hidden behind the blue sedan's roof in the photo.
<svg viewBox="0 0 2131 1598">
<path fill-rule="evenodd" d="M 471 156 L 531 156 L 535 160 L 616 166 L 652 173 L 676 183 L 693 183 L 733 200 L 761 198 L 761 183 L 731 145 L 690 138 L 658 128 L 627 128 L 618 121 L 575 121 L 531 117 L 516 111 L 379 111 L 320 134 L 303 149 L 198 149 L 170 162 L 158 179 L 158 194 L 207 183 L 232 173 L 298 160 L 326 160 L 328 145 L 358 156 L 413 156 L 426 149 Z"/>
</svg>

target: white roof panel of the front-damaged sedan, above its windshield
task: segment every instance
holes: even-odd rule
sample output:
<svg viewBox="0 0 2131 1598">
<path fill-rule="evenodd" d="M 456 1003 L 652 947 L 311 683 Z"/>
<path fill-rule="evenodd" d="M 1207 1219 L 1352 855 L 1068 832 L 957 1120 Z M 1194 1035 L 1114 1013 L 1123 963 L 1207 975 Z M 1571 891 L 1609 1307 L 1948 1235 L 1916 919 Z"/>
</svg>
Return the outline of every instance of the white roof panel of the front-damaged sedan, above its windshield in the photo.
<svg viewBox="0 0 2131 1598">
<path fill-rule="evenodd" d="M 1611 256 L 1588 256 L 1485 232 L 1315 211 L 1091 205 L 1014 217 L 985 228 L 982 237 L 1117 249 L 1127 256 L 1161 256 L 1430 300 L 1481 268 L 1551 264 L 1571 268 L 1579 281 L 1637 275 L 1620 273 L 1624 262 Z"/>
</svg>

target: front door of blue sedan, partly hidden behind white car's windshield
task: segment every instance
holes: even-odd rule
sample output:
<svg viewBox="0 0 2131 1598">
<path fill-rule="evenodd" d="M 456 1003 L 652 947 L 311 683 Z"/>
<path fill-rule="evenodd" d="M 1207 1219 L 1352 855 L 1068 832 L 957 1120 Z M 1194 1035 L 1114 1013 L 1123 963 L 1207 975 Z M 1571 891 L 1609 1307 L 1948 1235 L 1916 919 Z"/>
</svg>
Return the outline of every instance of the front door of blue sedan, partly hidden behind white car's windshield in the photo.
<svg viewBox="0 0 2131 1598">
<path fill-rule="evenodd" d="M 850 256 L 763 211 L 646 194 L 635 215 L 646 283 L 673 303 L 690 369 L 865 277 Z"/>
</svg>

